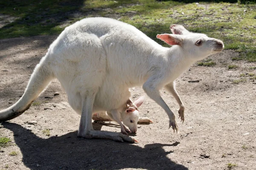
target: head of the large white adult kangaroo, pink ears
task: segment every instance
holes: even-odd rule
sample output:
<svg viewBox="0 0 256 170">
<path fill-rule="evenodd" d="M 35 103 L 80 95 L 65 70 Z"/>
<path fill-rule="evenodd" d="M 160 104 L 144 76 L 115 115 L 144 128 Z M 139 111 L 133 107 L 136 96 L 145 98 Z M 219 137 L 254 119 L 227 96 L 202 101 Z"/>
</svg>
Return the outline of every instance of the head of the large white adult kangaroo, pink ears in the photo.
<svg viewBox="0 0 256 170">
<path fill-rule="evenodd" d="M 185 57 L 193 61 L 204 59 L 224 48 L 221 40 L 207 37 L 205 34 L 189 32 L 183 26 L 172 25 L 170 29 L 172 34 L 158 34 L 157 38 L 169 45 L 179 45 Z"/>
</svg>

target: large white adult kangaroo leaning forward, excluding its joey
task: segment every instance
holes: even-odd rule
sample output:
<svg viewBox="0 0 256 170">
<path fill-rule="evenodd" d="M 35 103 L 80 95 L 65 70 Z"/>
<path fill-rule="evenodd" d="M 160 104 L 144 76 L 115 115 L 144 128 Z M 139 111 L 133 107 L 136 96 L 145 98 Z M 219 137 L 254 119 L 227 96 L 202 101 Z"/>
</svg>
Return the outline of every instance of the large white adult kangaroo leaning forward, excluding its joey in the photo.
<svg viewBox="0 0 256 170">
<path fill-rule="evenodd" d="M 118 20 L 86 18 L 65 28 L 50 45 L 47 54 L 29 80 L 23 96 L 11 107 L 0 111 L 0 121 L 13 119 L 29 108 L 33 100 L 57 78 L 68 96 L 70 106 L 81 114 L 78 136 L 137 142 L 122 133 L 96 131 L 92 115 L 107 111 L 121 125 L 131 87 L 143 86 L 145 93 L 169 116 L 169 127 L 177 131 L 175 115 L 160 96 L 166 88 L 180 105 L 174 81 L 192 63 L 222 51 L 221 40 L 172 25 L 173 34 L 158 34 L 171 48 L 159 45 L 134 26 Z M 122 126 L 121 126 L 122 128 Z"/>
</svg>

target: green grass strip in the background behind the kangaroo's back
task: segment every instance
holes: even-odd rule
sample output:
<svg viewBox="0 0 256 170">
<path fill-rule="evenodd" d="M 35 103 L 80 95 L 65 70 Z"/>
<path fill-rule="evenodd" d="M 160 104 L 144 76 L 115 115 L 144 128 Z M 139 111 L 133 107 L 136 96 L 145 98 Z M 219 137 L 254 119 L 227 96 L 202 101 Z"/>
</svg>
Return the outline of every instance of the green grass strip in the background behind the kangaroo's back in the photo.
<svg viewBox="0 0 256 170">
<path fill-rule="evenodd" d="M 225 49 L 239 52 L 233 60 L 256 62 L 255 0 L 209 0 L 200 5 L 192 0 L 6 0 L 0 2 L 0 13 L 15 17 L 0 28 L 0 39 L 57 35 L 84 17 L 102 16 L 130 23 L 164 46 L 156 35 L 170 33 L 171 24 L 184 25 L 223 40 Z"/>
</svg>

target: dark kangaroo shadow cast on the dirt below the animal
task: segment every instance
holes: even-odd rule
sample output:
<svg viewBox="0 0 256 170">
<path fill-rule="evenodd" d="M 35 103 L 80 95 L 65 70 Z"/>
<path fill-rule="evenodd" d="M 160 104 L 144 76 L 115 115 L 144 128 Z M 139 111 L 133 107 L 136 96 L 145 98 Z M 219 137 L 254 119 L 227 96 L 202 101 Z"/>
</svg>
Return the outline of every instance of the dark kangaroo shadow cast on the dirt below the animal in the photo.
<svg viewBox="0 0 256 170">
<path fill-rule="evenodd" d="M 94 168 L 97 170 L 122 168 L 188 170 L 166 157 L 173 152 L 171 148 L 168 152 L 163 149 L 163 146 L 177 146 L 178 142 L 146 144 L 142 148 L 125 142 L 82 139 L 76 136 L 77 132 L 42 139 L 18 124 L 5 122 L 2 125 L 12 130 L 15 144 L 23 154 L 23 163 L 34 170 L 60 168 L 68 170 Z"/>
</svg>

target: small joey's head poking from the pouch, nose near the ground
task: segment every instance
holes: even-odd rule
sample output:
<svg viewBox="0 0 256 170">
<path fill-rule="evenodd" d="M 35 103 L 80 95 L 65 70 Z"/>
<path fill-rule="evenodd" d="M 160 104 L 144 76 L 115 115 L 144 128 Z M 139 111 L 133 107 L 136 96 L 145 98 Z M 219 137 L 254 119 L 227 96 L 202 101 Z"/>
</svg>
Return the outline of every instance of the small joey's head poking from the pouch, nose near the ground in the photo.
<svg viewBox="0 0 256 170">
<path fill-rule="evenodd" d="M 131 100 L 128 100 L 125 113 L 121 114 L 123 123 L 129 127 L 132 133 L 137 132 L 137 123 L 139 120 L 139 111 L 137 108 L 142 105 L 144 99 L 144 96 L 140 96 L 134 103 L 131 102 Z"/>
</svg>

